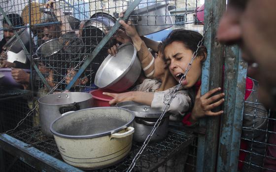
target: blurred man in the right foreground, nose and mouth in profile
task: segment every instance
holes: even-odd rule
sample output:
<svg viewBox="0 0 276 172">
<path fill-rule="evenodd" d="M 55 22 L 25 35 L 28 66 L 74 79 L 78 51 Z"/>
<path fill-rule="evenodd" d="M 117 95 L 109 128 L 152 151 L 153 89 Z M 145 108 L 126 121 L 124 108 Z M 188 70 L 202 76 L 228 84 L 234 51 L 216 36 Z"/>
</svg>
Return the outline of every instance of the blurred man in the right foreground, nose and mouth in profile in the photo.
<svg viewBox="0 0 276 172">
<path fill-rule="evenodd" d="M 258 97 L 276 109 L 276 0 L 229 0 L 217 31 L 218 41 L 238 44 L 247 75 L 259 81 Z M 271 116 L 265 172 L 276 171 L 276 120 Z"/>
</svg>

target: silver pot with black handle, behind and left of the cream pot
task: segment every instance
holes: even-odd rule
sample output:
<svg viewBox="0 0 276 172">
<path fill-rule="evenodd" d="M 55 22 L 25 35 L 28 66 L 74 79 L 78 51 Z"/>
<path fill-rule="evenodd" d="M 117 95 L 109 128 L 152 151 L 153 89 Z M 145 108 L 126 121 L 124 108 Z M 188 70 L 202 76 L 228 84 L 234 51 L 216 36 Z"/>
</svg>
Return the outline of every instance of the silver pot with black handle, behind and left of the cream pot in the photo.
<svg viewBox="0 0 276 172">
<path fill-rule="evenodd" d="M 48 137 L 53 136 L 50 125 L 65 112 L 92 107 L 92 95 L 89 93 L 59 93 L 38 99 L 39 122 L 41 131 Z"/>
</svg>

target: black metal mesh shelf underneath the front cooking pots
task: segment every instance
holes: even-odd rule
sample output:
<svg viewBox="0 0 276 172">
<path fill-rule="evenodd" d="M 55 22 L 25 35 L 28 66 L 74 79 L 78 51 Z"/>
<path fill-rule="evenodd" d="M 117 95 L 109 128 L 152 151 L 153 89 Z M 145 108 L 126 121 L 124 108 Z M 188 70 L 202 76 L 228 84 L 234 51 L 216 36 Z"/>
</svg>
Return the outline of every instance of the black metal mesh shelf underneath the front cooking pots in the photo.
<svg viewBox="0 0 276 172">
<path fill-rule="evenodd" d="M 54 138 L 47 138 L 41 133 L 40 128 L 30 128 L 27 130 L 9 133 L 9 136 L 24 142 L 24 148 L 36 148 L 39 151 L 62 161 Z M 0 140 L 2 141 L 2 140 Z M 170 130 L 168 137 L 158 143 L 149 144 L 139 158 L 133 172 L 154 172 L 170 158 L 185 149 L 193 141 L 193 135 Z M 93 172 L 125 172 L 130 166 L 134 156 L 141 147 L 141 143 L 133 143 L 129 155 L 115 166 L 95 170 Z"/>
</svg>

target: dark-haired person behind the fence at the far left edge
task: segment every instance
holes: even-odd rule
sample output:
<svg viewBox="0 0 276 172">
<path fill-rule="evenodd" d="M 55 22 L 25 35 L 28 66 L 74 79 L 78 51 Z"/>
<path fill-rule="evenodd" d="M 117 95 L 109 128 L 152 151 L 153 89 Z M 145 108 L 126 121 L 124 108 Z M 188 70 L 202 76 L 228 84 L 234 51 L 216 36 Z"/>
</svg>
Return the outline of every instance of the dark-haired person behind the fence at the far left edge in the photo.
<svg viewBox="0 0 276 172">
<path fill-rule="evenodd" d="M 23 19 L 20 17 L 20 15 L 15 13 L 7 14 L 8 19 L 10 20 L 13 27 L 20 27 L 24 26 Z M 14 62 L 8 62 L 7 61 L 7 55 L 6 52 L 2 49 L 2 47 L 7 43 L 7 41 L 14 36 L 14 32 L 19 32 L 20 29 L 12 29 L 10 28 L 7 20 L 3 18 L 3 39 L 0 41 L 0 56 L 2 59 L 0 59 L 0 68 L 18 68 L 13 69 L 14 72 L 20 69 L 29 69 L 30 68 L 30 61 L 27 59 L 27 63 L 21 63 L 18 61 Z M 26 45 L 27 50 L 30 52 L 30 44 L 28 43 Z"/>
</svg>

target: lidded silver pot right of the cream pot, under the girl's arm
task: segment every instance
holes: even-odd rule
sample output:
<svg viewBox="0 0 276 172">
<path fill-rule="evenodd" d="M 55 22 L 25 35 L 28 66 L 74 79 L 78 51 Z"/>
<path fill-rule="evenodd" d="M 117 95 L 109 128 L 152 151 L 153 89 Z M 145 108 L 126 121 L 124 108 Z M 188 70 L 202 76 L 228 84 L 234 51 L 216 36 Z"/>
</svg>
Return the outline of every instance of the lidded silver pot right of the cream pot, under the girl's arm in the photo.
<svg viewBox="0 0 276 172">
<path fill-rule="evenodd" d="M 143 105 L 135 102 L 121 102 L 116 104 L 117 107 L 122 107 L 132 111 L 135 115 L 134 128 L 135 134 L 133 139 L 138 142 L 144 142 L 150 134 L 153 126 L 162 114 L 162 111 L 152 109 L 148 105 Z M 161 141 L 168 135 L 169 116 L 166 113 L 159 127 L 153 134 L 151 141 Z"/>
</svg>

